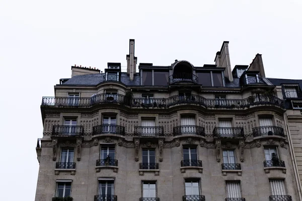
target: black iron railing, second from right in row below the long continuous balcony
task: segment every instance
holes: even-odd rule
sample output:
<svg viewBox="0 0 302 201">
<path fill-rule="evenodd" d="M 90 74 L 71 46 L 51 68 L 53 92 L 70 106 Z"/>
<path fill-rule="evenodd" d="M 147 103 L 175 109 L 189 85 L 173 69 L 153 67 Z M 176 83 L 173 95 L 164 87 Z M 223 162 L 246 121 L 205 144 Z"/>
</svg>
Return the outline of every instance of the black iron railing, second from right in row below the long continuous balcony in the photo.
<svg viewBox="0 0 302 201">
<path fill-rule="evenodd" d="M 237 138 L 244 137 L 243 127 L 215 127 L 213 130 L 215 138 Z"/>
</svg>

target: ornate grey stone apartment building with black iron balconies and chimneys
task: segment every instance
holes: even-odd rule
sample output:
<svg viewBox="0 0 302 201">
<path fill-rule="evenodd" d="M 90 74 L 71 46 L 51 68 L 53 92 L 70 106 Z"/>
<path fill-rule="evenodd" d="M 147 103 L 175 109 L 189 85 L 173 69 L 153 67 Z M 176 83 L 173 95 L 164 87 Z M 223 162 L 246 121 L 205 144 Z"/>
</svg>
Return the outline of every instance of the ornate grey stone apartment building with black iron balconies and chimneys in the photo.
<svg viewBox="0 0 302 201">
<path fill-rule="evenodd" d="M 228 45 L 213 65 L 155 66 L 130 40 L 127 72 L 72 66 L 42 98 L 35 200 L 302 201 L 300 102 L 260 54 L 231 70 Z"/>
</svg>

